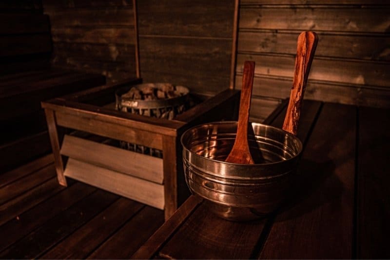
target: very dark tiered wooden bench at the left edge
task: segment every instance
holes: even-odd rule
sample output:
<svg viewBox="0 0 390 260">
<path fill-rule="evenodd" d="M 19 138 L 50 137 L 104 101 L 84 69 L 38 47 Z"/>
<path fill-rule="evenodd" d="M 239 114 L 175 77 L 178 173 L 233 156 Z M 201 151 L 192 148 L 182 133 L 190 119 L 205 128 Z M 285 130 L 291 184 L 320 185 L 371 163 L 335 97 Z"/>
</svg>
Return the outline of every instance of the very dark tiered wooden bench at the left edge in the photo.
<svg viewBox="0 0 390 260">
<path fill-rule="evenodd" d="M 0 172 L 51 150 L 40 102 L 105 84 L 102 75 L 53 68 L 47 15 L 0 9 Z"/>
</svg>

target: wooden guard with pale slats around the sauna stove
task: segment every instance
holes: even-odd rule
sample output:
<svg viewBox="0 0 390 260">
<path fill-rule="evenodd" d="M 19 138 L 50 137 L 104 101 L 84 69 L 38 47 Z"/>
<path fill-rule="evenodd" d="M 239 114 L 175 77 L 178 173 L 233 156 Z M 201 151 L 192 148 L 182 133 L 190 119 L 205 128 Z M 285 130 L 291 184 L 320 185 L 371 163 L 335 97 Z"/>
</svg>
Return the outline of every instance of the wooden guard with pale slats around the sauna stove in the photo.
<svg viewBox="0 0 390 260">
<path fill-rule="evenodd" d="M 190 195 L 181 134 L 203 122 L 235 120 L 240 92 L 198 96 L 195 106 L 173 120 L 115 110 L 115 91 L 139 83 L 141 79 L 123 80 L 44 101 L 42 107 L 61 185 L 67 185 L 66 178 L 76 179 L 163 209 L 168 219 Z M 163 157 L 111 145 L 119 141 L 162 150 Z"/>
</svg>

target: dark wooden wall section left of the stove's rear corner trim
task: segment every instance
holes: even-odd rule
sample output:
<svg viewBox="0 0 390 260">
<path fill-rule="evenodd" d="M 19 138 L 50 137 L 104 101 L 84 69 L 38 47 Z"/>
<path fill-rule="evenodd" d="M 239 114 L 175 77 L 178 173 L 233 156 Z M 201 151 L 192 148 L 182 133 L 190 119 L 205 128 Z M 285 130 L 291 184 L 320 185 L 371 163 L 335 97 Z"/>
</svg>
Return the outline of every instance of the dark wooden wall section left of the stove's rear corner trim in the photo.
<svg viewBox="0 0 390 260">
<path fill-rule="evenodd" d="M 53 66 L 100 73 L 108 82 L 136 76 L 133 0 L 43 0 L 43 8 Z"/>
</svg>

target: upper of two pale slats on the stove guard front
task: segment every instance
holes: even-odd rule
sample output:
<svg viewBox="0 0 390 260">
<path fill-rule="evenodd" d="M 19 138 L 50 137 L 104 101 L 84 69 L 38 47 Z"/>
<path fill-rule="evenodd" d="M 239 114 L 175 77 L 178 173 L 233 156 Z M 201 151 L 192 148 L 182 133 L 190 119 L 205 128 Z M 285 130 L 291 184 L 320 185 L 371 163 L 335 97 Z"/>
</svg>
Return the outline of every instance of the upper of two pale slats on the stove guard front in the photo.
<svg viewBox="0 0 390 260">
<path fill-rule="evenodd" d="M 162 184 L 162 159 L 65 135 L 61 154 L 134 177 Z"/>
</svg>

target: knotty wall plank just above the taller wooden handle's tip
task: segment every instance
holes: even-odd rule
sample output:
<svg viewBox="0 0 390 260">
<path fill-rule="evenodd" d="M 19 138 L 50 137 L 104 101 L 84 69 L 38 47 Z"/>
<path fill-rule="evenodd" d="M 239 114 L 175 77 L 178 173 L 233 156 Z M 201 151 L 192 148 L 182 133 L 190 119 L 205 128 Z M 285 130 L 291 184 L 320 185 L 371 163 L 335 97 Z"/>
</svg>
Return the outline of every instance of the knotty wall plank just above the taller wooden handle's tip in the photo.
<svg viewBox="0 0 390 260">
<path fill-rule="evenodd" d="M 239 23 L 240 28 L 376 33 L 387 32 L 389 25 L 389 10 L 374 6 L 369 8 L 243 7 Z"/>
</svg>

